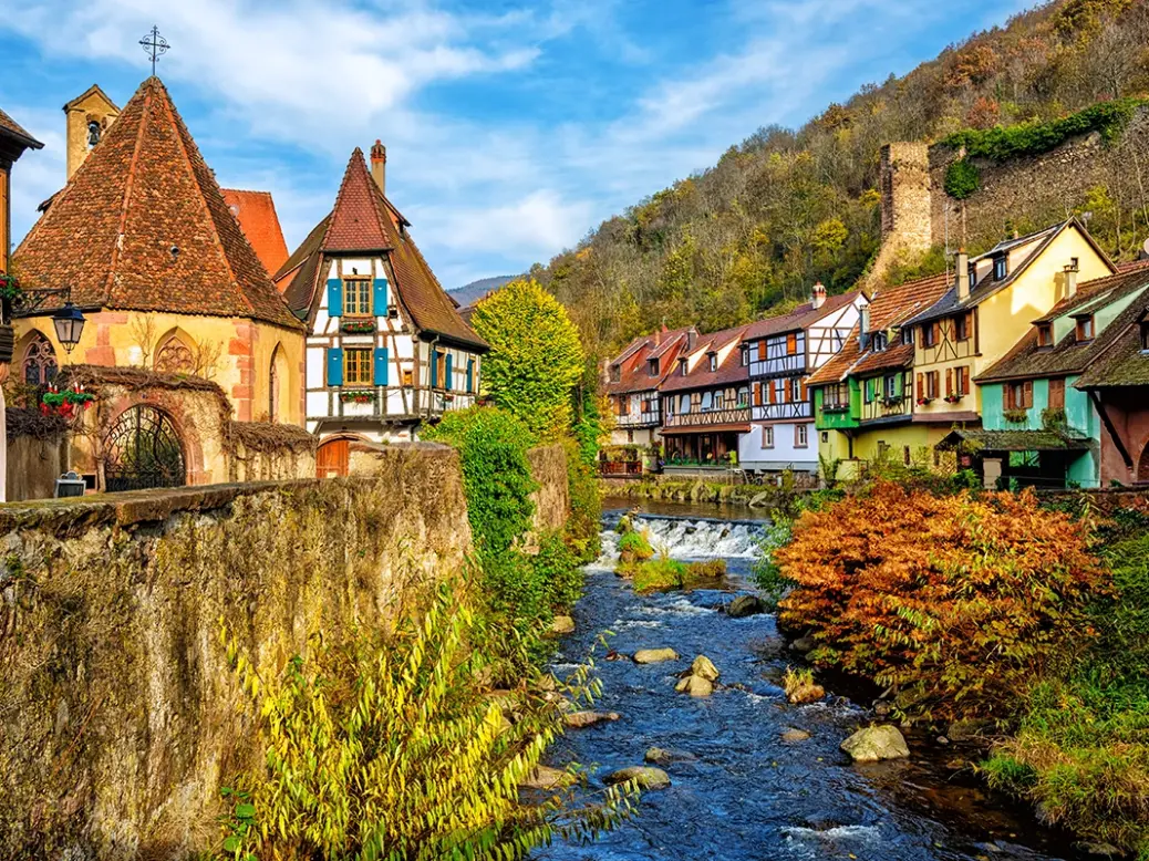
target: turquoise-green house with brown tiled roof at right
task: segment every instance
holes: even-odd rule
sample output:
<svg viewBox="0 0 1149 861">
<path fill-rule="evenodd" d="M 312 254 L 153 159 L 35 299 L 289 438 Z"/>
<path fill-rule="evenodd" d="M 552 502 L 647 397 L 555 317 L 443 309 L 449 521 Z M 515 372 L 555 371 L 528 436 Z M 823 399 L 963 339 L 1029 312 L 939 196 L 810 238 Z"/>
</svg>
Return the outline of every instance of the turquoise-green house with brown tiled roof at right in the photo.
<svg viewBox="0 0 1149 861">
<path fill-rule="evenodd" d="M 987 484 L 1101 486 L 1102 426 L 1074 383 L 1105 350 L 1110 325 L 1149 296 L 1149 265 L 1080 287 L 1033 321 L 1010 352 L 974 382 L 981 429 L 954 432 L 942 445 L 974 453 Z"/>
</svg>

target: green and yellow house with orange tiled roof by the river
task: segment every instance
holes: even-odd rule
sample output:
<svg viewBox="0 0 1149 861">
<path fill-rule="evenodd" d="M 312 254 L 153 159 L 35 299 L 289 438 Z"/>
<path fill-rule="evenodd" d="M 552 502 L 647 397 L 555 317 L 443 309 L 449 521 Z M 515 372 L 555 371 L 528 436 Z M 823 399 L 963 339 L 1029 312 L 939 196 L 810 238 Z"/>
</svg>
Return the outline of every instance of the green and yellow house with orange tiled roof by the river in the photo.
<svg viewBox="0 0 1149 861">
<path fill-rule="evenodd" d="M 856 475 L 864 461 L 928 458 L 936 427 L 913 412 L 913 329 L 905 321 L 949 288 L 944 274 L 880 287 L 863 305 L 841 350 L 807 381 L 813 396 L 818 455 Z M 946 426 L 948 428 L 948 425 Z M 827 476 L 828 478 L 828 476 Z"/>
</svg>

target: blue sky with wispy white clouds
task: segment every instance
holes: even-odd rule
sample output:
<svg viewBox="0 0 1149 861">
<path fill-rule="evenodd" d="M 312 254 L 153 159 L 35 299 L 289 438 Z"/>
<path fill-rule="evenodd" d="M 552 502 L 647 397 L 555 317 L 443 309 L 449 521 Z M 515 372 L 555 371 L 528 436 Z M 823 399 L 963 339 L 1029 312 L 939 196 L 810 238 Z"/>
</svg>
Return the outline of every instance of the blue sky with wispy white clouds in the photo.
<svg viewBox="0 0 1149 861">
<path fill-rule="evenodd" d="M 444 286 L 524 271 L 771 123 L 799 125 L 1021 0 L 0 0 L 0 108 L 46 145 L 14 236 L 64 181 L 61 106 L 159 73 L 221 185 L 272 192 L 290 248 L 355 146 Z"/>
</svg>

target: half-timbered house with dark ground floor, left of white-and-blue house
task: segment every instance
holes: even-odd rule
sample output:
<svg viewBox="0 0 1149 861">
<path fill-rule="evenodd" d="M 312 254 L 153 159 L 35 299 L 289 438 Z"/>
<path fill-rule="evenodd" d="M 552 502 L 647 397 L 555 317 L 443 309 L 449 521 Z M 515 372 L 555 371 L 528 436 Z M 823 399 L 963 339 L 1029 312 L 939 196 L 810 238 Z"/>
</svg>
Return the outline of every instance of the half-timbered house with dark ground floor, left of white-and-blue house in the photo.
<svg viewBox="0 0 1149 861">
<path fill-rule="evenodd" d="M 747 327 L 703 335 L 676 359 L 660 387 L 668 473 L 696 473 L 738 464 L 741 434 L 750 430 Z"/>
</svg>

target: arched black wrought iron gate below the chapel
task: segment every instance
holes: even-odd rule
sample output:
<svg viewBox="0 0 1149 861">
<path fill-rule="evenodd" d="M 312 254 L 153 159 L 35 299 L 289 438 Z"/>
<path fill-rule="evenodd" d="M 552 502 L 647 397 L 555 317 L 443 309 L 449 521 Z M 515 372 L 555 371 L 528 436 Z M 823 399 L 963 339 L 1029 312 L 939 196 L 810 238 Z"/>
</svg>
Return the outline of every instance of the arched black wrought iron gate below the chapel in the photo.
<svg viewBox="0 0 1149 861">
<path fill-rule="evenodd" d="M 184 450 L 171 419 L 154 406 L 124 410 L 103 445 L 107 489 L 138 490 L 187 483 Z"/>
</svg>

